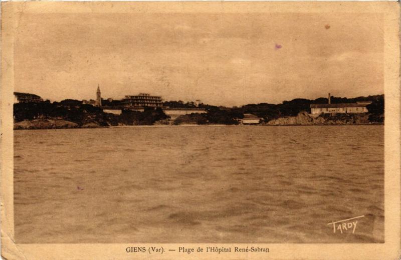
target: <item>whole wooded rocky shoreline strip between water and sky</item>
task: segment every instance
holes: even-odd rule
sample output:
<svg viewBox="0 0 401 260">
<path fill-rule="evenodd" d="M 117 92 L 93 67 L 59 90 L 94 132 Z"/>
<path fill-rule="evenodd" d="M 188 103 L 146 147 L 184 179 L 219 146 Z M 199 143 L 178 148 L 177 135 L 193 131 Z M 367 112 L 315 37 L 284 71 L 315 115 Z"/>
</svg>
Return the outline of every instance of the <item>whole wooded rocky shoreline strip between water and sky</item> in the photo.
<svg viewBox="0 0 401 260">
<path fill-rule="evenodd" d="M 333 102 L 333 109 L 325 108 Z M 328 104 L 329 102 L 330 104 Z M 361 103 L 361 104 L 359 104 Z M 363 103 L 363 104 L 362 104 Z M 349 104 L 349 109 L 343 107 Z M 131 126 L 193 126 L 193 125 L 373 125 L 384 122 L 384 96 L 358 98 L 293 99 L 281 104 L 248 104 L 242 107 L 218 107 L 202 104 L 167 102 L 179 110 L 171 114 L 162 107 L 144 107 L 143 111 L 121 109 L 109 111 L 79 100 L 61 102 L 27 102 L 14 104 L 14 129 L 103 128 Z M 178 107 L 174 107 L 177 105 Z M 338 106 L 337 106 L 338 105 Z M 181 107 L 183 106 L 183 107 Z M 187 106 L 187 107 L 185 107 Z M 361 106 L 358 110 L 358 106 Z M 352 110 L 352 108 L 354 108 Z M 341 108 L 341 109 L 339 109 Z M 363 109 L 362 109 L 363 108 Z M 166 109 L 166 108 L 165 108 Z M 184 112 L 183 112 L 184 111 Z M 197 112 L 198 111 L 198 112 Z M 194 113 L 195 112 L 195 113 Z"/>
</svg>

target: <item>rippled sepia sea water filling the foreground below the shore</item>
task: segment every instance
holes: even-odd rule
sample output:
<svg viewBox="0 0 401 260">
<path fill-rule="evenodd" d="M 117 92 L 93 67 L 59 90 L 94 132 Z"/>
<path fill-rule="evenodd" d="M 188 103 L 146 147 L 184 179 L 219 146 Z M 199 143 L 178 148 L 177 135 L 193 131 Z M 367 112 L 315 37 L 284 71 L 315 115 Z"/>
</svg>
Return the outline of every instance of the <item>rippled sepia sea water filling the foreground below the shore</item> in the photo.
<svg viewBox="0 0 401 260">
<path fill-rule="evenodd" d="M 18 242 L 383 242 L 383 126 L 15 131 Z M 327 223 L 359 215 L 354 234 Z"/>
</svg>

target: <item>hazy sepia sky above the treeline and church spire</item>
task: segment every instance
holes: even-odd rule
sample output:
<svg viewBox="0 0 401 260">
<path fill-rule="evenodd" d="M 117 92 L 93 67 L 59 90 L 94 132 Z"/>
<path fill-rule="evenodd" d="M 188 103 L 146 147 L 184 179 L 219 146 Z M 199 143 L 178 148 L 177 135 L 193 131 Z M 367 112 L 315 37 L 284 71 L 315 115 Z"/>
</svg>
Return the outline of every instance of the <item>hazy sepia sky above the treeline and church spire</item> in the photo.
<svg viewBox="0 0 401 260">
<path fill-rule="evenodd" d="M 26 14 L 15 91 L 44 99 L 141 92 L 214 105 L 383 94 L 374 14 Z"/>
</svg>

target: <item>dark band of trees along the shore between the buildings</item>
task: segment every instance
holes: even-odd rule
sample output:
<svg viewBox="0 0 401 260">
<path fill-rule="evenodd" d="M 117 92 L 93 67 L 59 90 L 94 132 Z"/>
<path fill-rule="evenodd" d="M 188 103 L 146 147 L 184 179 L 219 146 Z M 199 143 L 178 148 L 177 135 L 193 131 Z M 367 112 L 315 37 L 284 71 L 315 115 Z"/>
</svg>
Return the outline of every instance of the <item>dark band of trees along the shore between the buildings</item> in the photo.
<svg viewBox="0 0 401 260">
<path fill-rule="evenodd" d="M 383 122 L 384 120 L 384 95 L 375 95 L 357 98 L 331 97 L 331 103 L 355 103 L 358 101 L 371 101 L 367 106 L 369 111 L 369 121 Z M 302 111 L 310 112 L 311 104 L 327 104 L 327 98 L 293 99 L 283 101 L 280 104 L 247 104 L 241 107 L 213 106 L 208 104 L 198 104 L 182 101 L 165 101 L 164 106 L 171 108 L 204 108 L 205 114 L 191 114 L 180 117 L 176 122 L 193 122 L 196 124 L 238 124 L 238 120 L 244 114 L 254 114 L 263 118 L 265 122 L 287 116 L 296 116 Z M 109 104 L 111 105 L 111 104 Z M 161 108 L 145 108 L 143 112 L 122 110 L 121 115 L 104 113 L 99 107 L 83 104 L 82 101 L 66 99 L 61 102 L 45 101 L 40 103 L 17 103 L 14 104 L 15 122 L 33 119 L 63 119 L 82 126 L 87 123 L 95 122 L 99 126 L 124 125 L 151 125 L 160 120 L 166 120 L 169 116 L 165 115 Z"/>
</svg>

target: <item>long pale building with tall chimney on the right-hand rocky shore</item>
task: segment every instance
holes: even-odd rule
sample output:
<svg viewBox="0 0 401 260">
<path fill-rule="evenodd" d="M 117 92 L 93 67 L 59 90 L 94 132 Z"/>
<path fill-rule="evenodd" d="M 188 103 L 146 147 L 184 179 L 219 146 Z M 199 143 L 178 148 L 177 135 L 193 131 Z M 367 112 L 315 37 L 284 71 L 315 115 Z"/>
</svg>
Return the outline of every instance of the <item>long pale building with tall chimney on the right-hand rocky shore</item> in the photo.
<svg viewBox="0 0 401 260">
<path fill-rule="evenodd" d="M 346 114 L 346 113 L 367 113 L 367 105 L 371 104 L 370 101 L 356 102 L 356 103 L 339 103 L 331 104 L 330 94 L 328 96 L 328 104 L 311 104 L 311 114 Z"/>
</svg>

